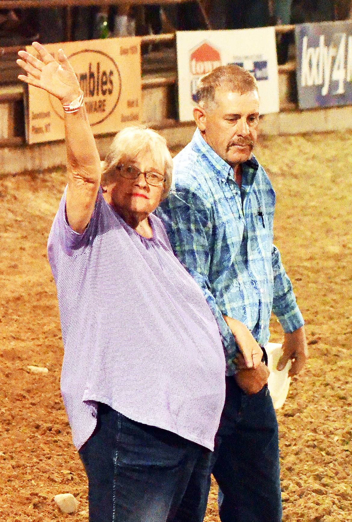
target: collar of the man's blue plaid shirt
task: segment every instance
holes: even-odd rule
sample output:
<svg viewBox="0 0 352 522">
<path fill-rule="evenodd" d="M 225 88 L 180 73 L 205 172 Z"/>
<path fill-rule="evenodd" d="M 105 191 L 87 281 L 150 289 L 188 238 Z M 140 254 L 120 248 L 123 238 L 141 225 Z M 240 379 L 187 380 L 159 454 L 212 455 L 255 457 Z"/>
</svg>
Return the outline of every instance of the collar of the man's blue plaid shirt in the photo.
<svg viewBox="0 0 352 522">
<path fill-rule="evenodd" d="M 234 171 L 232 167 L 230 167 L 230 165 L 217 155 L 210 145 L 208 145 L 198 128 L 195 134 L 193 134 L 192 142 L 193 148 L 204 155 L 211 163 L 211 167 L 214 169 L 217 179 L 220 181 L 226 181 L 228 177 L 234 179 Z M 251 185 L 253 183 L 258 168 L 259 163 L 253 154 L 245 163 L 242 163 L 242 176 L 243 179 L 246 180 L 246 184 Z"/>
</svg>

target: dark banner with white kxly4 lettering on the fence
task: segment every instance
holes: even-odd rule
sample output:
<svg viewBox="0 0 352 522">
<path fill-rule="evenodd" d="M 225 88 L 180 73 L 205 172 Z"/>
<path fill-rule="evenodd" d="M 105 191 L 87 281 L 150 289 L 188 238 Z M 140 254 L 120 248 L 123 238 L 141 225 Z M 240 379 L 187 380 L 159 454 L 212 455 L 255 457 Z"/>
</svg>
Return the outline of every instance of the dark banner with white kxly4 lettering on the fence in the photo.
<svg viewBox="0 0 352 522">
<path fill-rule="evenodd" d="M 300 109 L 352 104 L 352 21 L 296 26 Z"/>
</svg>

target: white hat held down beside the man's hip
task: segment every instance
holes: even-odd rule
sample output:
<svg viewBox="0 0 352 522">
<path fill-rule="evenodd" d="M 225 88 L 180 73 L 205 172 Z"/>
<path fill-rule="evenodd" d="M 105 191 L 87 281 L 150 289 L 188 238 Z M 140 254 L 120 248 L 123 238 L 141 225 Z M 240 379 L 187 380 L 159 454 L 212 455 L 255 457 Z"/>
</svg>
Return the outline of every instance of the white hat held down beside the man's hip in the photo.
<svg viewBox="0 0 352 522">
<path fill-rule="evenodd" d="M 282 407 L 288 394 L 291 381 L 291 377 L 288 376 L 288 370 L 291 367 L 291 361 L 288 361 L 285 368 L 279 372 L 276 370 L 276 365 L 282 355 L 282 345 L 277 342 L 268 342 L 264 348 L 268 354 L 268 368 L 270 370 L 268 388 L 274 408 L 277 410 Z"/>
</svg>

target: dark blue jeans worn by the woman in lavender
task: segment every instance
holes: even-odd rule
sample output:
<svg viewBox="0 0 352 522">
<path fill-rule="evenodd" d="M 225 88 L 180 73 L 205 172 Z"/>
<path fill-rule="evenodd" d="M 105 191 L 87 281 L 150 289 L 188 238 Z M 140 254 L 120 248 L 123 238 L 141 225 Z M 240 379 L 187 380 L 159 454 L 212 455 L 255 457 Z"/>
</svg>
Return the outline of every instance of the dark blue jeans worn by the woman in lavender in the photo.
<svg viewBox="0 0 352 522">
<path fill-rule="evenodd" d="M 99 404 L 98 425 L 79 455 L 89 481 L 90 522 L 202 522 L 208 449 Z"/>
</svg>

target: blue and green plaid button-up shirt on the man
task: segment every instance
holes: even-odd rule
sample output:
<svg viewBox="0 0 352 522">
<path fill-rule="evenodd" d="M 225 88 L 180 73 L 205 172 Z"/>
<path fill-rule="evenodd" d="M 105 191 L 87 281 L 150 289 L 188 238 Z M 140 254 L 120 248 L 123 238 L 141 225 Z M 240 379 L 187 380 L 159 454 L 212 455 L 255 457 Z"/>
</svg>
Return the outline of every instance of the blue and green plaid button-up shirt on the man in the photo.
<svg viewBox="0 0 352 522">
<path fill-rule="evenodd" d="M 272 310 L 285 332 L 304 324 L 273 245 L 274 189 L 254 156 L 242 167 L 240 189 L 233 169 L 197 129 L 174 158 L 171 192 L 156 210 L 215 315 L 227 375 L 236 372 L 238 347 L 223 315 L 244 323 L 260 346 L 269 341 Z"/>
</svg>

